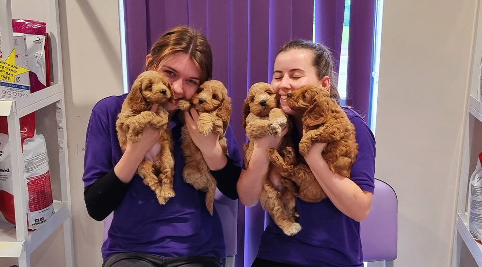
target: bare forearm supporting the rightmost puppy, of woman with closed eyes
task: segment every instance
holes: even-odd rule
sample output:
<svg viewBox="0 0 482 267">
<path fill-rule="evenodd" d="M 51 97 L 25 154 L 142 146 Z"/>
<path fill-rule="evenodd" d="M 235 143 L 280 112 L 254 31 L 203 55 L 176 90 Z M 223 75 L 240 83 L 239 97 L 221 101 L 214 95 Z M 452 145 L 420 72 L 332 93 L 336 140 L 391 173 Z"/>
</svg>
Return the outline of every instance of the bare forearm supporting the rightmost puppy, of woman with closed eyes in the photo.
<svg viewBox="0 0 482 267">
<path fill-rule="evenodd" d="M 361 190 L 349 178 L 333 173 L 321 154 L 319 158 L 306 158 L 306 162 L 335 207 L 358 222 L 368 216 L 372 193 Z"/>
</svg>

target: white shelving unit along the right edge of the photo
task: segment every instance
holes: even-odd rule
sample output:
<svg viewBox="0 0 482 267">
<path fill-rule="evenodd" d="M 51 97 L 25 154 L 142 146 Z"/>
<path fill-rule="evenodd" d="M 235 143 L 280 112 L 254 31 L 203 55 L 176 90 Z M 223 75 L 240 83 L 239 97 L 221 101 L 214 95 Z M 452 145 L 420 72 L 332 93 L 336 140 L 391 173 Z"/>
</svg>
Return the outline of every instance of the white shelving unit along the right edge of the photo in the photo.
<svg viewBox="0 0 482 267">
<path fill-rule="evenodd" d="M 457 215 L 455 237 L 452 252 L 452 267 L 459 267 L 463 245 L 468 248 L 475 262 L 482 267 L 482 245 L 476 242 L 468 230 L 468 203 L 470 176 L 474 172 L 477 156 L 482 151 L 482 103 L 480 102 L 480 74 L 482 57 L 482 6 L 477 6 L 474 30 L 474 45 L 472 46 L 472 73 L 470 76 L 470 95 L 467 101 L 464 144 L 462 150 L 462 165 L 460 171 L 459 194 L 457 200 Z"/>
</svg>

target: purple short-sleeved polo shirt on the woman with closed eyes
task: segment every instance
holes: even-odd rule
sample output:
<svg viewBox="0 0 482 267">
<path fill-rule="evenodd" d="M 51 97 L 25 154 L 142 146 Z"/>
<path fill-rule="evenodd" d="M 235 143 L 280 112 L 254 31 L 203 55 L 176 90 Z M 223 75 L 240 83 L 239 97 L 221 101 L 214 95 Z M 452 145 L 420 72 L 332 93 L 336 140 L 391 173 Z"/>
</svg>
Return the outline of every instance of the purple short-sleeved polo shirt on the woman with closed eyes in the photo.
<svg viewBox="0 0 482 267">
<path fill-rule="evenodd" d="M 373 193 L 375 138 L 360 115 L 349 108 L 343 110 L 355 126 L 358 142 L 351 179 L 362 190 Z M 299 135 L 294 141 L 299 143 Z M 296 198 L 296 210 L 300 214 L 296 221 L 301 224 L 301 231 L 288 237 L 270 217 L 261 237 L 259 258 L 303 266 L 363 266 L 360 223 L 344 215 L 328 198 L 319 203 L 307 203 Z"/>
</svg>

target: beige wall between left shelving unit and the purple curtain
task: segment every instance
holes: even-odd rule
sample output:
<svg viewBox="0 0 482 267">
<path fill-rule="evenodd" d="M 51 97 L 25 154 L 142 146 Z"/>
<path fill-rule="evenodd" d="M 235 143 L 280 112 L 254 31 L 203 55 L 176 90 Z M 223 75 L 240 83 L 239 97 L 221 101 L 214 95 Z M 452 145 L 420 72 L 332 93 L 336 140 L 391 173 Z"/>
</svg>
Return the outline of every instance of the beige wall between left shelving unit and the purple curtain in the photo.
<svg viewBox="0 0 482 267">
<path fill-rule="evenodd" d="M 118 0 L 59 0 L 59 9 L 75 264 L 100 267 L 103 223 L 87 214 L 81 178 L 91 109 L 101 98 L 122 93 Z M 38 0 L 13 0 L 12 14 L 46 21 L 48 9 Z M 31 262 L 32 267 L 65 266 L 62 228 L 32 253 Z M 13 264 L 15 259 L 0 259 L 0 267 Z"/>
</svg>

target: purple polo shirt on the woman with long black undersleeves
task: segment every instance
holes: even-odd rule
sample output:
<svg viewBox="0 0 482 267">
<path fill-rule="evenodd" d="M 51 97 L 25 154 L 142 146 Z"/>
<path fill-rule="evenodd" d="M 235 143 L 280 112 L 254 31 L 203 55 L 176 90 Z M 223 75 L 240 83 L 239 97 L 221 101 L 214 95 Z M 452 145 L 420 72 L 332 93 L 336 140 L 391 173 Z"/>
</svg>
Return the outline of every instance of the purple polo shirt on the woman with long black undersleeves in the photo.
<svg viewBox="0 0 482 267">
<path fill-rule="evenodd" d="M 119 162 L 122 151 L 117 140 L 115 121 L 127 94 L 100 100 L 92 109 L 87 128 L 84 186 L 102 178 Z M 206 193 L 184 182 L 184 157 L 181 150 L 181 124 L 170 124 L 174 138 L 174 191 L 176 196 L 160 205 L 156 194 L 139 175 L 130 182 L 114 217 L 107 240 L 102 245 L 104 261 L 113 253 L 142 252 L 161 257 L 226 256 L 219 214 L 209 214 Z M 232 130 L 226 133 L 230 158 L 241 166 Z"/>
</svg>

